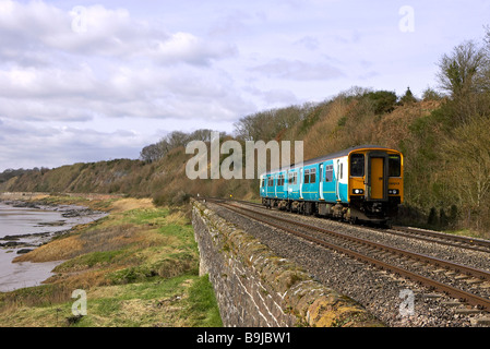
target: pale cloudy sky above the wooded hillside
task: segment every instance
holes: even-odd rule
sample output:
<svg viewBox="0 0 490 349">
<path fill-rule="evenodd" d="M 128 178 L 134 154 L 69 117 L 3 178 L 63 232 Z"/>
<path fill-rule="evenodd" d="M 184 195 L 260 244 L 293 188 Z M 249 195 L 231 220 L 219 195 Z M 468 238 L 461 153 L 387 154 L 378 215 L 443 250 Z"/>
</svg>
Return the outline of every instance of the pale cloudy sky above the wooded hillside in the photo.
<svg viewBox="0 0 490 349">
<path fill-rule="evenodd" d="M 351 86 L 420 96 L 488 24 L 489 0 L 0 0 L 0 171 L 138 158 Z"/>
</svg>

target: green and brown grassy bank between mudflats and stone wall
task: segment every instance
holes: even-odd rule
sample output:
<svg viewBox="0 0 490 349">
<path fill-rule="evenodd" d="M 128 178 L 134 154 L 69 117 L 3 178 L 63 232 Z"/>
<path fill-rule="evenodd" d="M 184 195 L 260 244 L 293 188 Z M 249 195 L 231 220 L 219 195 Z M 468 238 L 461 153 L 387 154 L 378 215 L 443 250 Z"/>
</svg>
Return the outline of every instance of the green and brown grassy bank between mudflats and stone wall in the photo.
<svg viewBox="0 0 490 349">
<path fill-rule="evenodd" d="M 63 198 L 50 198 L 64 203 Z M 148 200 L 82 201 L 110 215 L 75 227 L 17 261 L 60 261 L 45 285 L 0 293 L 0 326 L 222 326 L 183 209 Z M 86 296 L 86 315 L 72 306 Z"/>
</svg>

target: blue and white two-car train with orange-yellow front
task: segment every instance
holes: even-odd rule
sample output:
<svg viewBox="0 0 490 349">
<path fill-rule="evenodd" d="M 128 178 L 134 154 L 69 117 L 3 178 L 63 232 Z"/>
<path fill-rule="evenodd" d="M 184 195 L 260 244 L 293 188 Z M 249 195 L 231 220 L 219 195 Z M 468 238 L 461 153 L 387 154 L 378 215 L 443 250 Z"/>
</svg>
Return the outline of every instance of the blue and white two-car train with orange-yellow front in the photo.
<svg viewBox="0 0 490 349">
<path fill-rule="evenodd" d="M 386 222 L 403 203 L 403 154 L 361 145 L 260 176 L 262 204 L 349 221 Z"/>
</svg>

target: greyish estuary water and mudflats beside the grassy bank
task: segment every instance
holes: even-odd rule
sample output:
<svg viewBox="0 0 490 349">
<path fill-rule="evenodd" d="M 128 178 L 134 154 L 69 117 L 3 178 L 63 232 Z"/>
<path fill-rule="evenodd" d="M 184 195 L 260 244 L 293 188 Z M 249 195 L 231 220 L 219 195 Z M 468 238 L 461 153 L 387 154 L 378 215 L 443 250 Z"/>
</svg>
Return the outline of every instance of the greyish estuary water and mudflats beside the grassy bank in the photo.
<svg viewBox="0 0 490 349">
<path fill-rule="evenodd" d="M 38 286 L 63 262 L 12 263 L 17 252 L 35 249 L 75 225 L 103 216 L 76 206 L 31 208 L 0 202 L 0 292 Z"/>
</svg>

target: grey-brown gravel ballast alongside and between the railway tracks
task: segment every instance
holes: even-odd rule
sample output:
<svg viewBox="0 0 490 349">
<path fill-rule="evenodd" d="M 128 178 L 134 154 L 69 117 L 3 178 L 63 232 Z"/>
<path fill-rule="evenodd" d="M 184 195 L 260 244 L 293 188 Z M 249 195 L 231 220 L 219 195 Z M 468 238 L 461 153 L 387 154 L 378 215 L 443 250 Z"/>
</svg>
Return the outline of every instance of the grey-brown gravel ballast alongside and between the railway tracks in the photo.
<svg viewBox="0 0 490 349">
<path fill-rule="evenodd" d="M 277 255 L 296 262 L 320 282 L 361 303 L 368 311 L 389 326 L 463 327 L 475 325 L 477 318 L 487 316 L 479 313 L 468 315 L 462 310 L 462 306 L 450 306 L 455 301 L 452 298 L 435 294 L 431 290 L 420 287 L 410 280 L 367 266 L 340 253 L 325 250 L 278 229 L 255 222 L 220 206 L 211 203 L 208 205 L 210 208 L 214 209 L 225 219 L 259 238 Z M 291 215 L 286 213 L 277 210 L 271 213 L 285 215 L 285 217 L 291 219 Z M 488 254 L 483 255 L 485 253 L 462 253 L 461 249 L 451 246 L 441 248 L 433 243 L 395 237 L 362 227 L 346 226 L 327 219 L 299 215 L 292 217 L 295 220 L 306 221 L 310 225 L 319 225 L 326 229 L 330 228 L 360 238 L 368 238 L 369 236 L 370 239 L 384 244 L 410 249 L 419 253 L 450 258 L 461 264 L 490 269 L 489 257 Z M 407 315 L 407 311 L 410 309 L 406 305 L 410 304 L 410 300 L 404 294 L 414 294 L 413 315 Z"/>
</svg>

